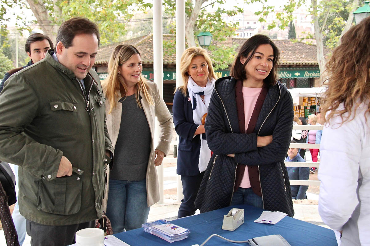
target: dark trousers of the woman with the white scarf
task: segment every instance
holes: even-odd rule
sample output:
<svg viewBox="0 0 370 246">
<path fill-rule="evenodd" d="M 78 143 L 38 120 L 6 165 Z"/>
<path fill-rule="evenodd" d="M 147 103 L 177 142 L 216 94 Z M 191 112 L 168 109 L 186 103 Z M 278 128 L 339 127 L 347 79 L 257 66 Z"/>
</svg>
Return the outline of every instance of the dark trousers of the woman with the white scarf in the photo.
<svg viewBox="0 0 370 246">
<path fill-rule="evenodd" d="M 184 195 L 184 198 L 181 200 L 177 218 L 195 214 L 196 207 L 194 202 L 196 195 L 198 194 L 199 186 L 201 186 L 203 175 L 204 171 L 196 176 L 181 175 L 182 194 Z"/>
</svg>

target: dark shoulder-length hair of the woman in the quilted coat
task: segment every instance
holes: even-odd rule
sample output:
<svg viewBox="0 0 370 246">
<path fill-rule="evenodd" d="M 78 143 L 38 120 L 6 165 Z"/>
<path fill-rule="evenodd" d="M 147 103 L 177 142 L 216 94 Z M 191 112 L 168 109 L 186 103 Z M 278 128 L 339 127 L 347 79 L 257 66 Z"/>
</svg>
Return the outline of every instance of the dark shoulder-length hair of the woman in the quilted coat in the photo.
<svg viewBox="0 0 370 246">
<path fill-rule="evenodd" d="M 239 50 L 238 55 L 236 56 L 233 65 L 230 69 L 230 75 L 237 80 L 245 80 L 247 79 L 245 74 L 245 65 L 252 59 L 256 49 L 258 46 L 262 44 L 269 44 L 272 46 L 272 50 L 274 52 L 274 59 L 272 60 L 272 69 L 266 79 L 263 81 L 268 83 L 269 85 L 275 85 L 277 81 L 277 63 L 280 59 L 280 52 L 279 49 L 276 47 L 274 42 L 265 35 L 257 34 L 247 39 L 244 42 L 242 47 Z M 244 64 L 240 62 L 240 57 L 247 58 Z"/>
</svg>

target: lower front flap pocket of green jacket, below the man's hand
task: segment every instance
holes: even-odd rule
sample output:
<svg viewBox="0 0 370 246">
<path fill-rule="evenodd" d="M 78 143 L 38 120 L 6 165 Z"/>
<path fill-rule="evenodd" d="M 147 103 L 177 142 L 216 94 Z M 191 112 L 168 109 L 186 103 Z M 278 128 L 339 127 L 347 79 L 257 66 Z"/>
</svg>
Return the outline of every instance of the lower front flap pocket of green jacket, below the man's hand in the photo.
<svg viewBox="0 0 370 246">
<path fill-rule="evenodd" d="M 37 209 L 60 215 L 71 215 L 81 208 L 82 180 L 79 175 L 38 181 Z"/>
</svg>

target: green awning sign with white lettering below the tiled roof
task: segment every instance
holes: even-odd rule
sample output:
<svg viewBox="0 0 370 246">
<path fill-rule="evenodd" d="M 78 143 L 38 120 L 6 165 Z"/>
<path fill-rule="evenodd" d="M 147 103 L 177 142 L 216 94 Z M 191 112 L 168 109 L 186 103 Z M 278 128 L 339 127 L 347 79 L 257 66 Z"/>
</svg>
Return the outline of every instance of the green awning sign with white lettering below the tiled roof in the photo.
<svg viewBox="0 0 370 246">
<path fill-rule="evenodd" d="M 153 71 L 142 71 L 142 75 L 147 80 L 153 80 L 154 79 L 154 72 Z M 229 70 L 219 70 L 215 71 L 216 77 L 221 78 L 225 76 L 230 76 Z M 98 73 L 100 80 L 104 80 L 108 73 Z M 278 76 L 282 79 L 287 78 L 318 78 L 320 77 L 320 70 L 315 68 L 308 68 L 308 69 L 279 69 L 278 70 Z M 176 80 L 176 71 L 165 71 L 163 72 L 163 80 Z"/>
</svg>

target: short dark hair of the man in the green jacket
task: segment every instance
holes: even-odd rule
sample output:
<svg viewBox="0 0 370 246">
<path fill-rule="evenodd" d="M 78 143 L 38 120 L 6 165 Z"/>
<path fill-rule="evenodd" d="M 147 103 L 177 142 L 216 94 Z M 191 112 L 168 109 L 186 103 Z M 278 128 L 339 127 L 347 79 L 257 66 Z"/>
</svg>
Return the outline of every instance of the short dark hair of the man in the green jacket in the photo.
<svg viewBox="0 0 370 246">
<path fill-rule="evenodd" d="M 65 48 L 72 46 L 73 39 L 78 34 L 95 34 L 100 44 L 98 25 L 87 18 L 73 17 L 64 21 L 58 30 L 57 44 L 62 42 Z"/>
</svg>

